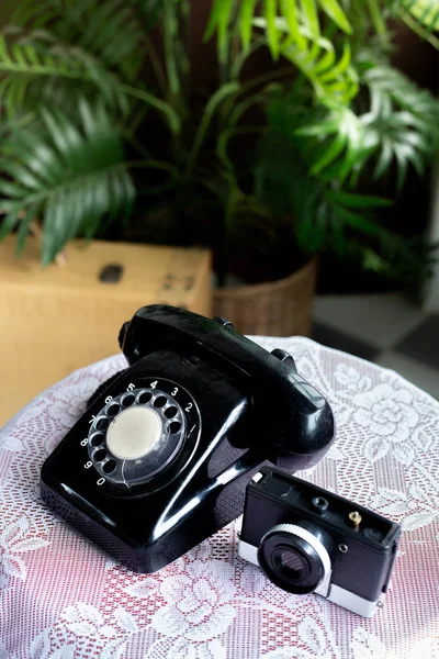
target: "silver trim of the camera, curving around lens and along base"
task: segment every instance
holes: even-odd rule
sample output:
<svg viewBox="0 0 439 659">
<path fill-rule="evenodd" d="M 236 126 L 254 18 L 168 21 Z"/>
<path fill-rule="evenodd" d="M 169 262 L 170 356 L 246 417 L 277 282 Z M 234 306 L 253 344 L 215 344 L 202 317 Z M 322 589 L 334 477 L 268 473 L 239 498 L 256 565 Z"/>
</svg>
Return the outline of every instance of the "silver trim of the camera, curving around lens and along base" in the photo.
<svg viewBox="0 0 439 659">
<path fill-rule="evenodd" d="M 293 532 L 291 530 L 293 529 Z M 326 597 L 329 602 L 334 602 L 344 608 L 348 608 L 352 613 L 357 613 L 358 615 L 362 615 L 363 617 L 372 617 L 379 606 L 382 606 L 384 594 L 382 594 L 376 601 L 370 602 L 369 600 L 364 600 L 364 597 L 360 597 L 339 585 L 336 585 L 330 582 L 331 578 L 331 563 L 329 555 L 326 548 L 322 545 L 322 543 L 313 536 L 312 533 L 297 526 L 295 524 L 278 524 L 270 528 L 261 539 L 261 543 L 266 538 L 268 534 L 271 534 L 274 530 L 283 530 L 286 533 L 292 533 L 292 535 L 296 535 L 302 538 L 317 551 L 320 560 L 324 565 L 324 577 L 315 591 L 313 591 L 316 595 L 320 595 L 322 597 Z M 248 562 L 254 563 L 255 566 L 259 566 L 258 561 L 258 547 L 255 545 L 250 545 L 249 543 L 245 543 L 239 539 L 238 543 L 238 554 L 240 558 L 247 560 Z"/>
</svg>

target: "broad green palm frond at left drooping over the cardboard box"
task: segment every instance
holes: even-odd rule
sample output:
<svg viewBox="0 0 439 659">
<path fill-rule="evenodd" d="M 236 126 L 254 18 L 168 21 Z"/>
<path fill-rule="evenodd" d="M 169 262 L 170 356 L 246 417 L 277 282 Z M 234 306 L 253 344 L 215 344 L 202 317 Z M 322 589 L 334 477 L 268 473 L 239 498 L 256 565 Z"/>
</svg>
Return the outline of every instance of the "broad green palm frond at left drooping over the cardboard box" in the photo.
<svg viewBox="0 0 439 659">
<path fill-rule="evenodd" d="M 127 217 L 135 191 L 121 137 L 102 104 L 81 99 L 76 123 L 46 107 L 40 115 L 37 125 L 14 131 L 1 147 L 0 209 L 3 234 L 20 213 L 27 226 L 43 219 L 47 265 L 70 238 L 91 237 L 105 219 Z"/>
</svg>

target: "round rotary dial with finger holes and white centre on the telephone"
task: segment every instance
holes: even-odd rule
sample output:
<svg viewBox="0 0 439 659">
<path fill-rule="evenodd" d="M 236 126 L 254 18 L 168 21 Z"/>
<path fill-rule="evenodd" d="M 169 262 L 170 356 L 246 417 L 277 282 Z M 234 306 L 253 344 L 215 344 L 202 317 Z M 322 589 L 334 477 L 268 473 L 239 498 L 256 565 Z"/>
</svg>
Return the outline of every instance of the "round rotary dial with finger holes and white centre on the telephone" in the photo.
<svg viewBox="0 0 439 659">
<path fill-rule="evenodd" d="M 175 462 L 194 429 L 193 424 L 188 427 L 182 407 L 192 410 L 194 402 L 184 391 L 181 405 L 178 398 L 182 396 L 177 396 L 180 389 L 161 380 L 108 400 L 87 440 L 90 462 L 102 479 L 132 487 L 149 481 Z"/>
</svg>

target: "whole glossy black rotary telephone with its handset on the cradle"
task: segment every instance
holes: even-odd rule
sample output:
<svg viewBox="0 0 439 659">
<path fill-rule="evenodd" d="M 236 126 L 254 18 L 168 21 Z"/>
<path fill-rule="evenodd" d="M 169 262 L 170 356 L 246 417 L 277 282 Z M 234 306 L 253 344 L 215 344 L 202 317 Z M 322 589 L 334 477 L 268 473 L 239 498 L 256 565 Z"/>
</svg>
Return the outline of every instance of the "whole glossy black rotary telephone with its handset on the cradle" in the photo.
<svg viewBox="0 0 439 659">
<path fill-rule="evenodd" d="M 165 305 L 121 330 L 128 367 L 43 465 L 43 500 L 117 560 L 154 572 L 243 512 L 267 460 L 294 472 L 334 439 L 324 396 L 281 349 Z"/>
</svg>

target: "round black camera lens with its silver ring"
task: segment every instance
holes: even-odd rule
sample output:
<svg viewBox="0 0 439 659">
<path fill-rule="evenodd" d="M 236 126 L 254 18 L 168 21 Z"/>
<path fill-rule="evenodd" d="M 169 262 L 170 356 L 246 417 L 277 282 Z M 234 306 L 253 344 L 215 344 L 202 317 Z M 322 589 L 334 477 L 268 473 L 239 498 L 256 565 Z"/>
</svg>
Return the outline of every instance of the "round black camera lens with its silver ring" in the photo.
<svg viewBox="0 0 439 659">
<path fill-rule="evenodd" d="M 330 573 L 325 544 L 326 534 L 317 526 L 279 524 L 262 537 L 258 562 L 275 585 L 297 595 L 312 593 Z"/>
</svg>

